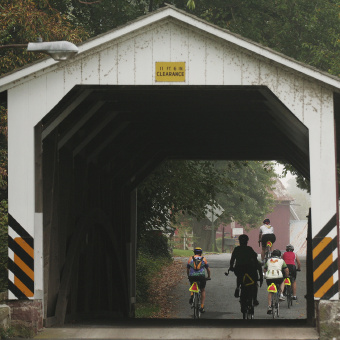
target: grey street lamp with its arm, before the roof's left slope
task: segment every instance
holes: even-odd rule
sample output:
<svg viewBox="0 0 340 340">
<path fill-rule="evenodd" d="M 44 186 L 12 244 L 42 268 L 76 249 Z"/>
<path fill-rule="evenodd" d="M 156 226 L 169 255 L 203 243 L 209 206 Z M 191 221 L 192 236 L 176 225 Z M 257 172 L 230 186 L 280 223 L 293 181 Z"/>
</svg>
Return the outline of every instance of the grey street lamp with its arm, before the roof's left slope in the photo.
<svg viewBox="0 0 340 340">
<path fill-rule="evenodd" d="M 43 42 L 42 39 L 38 39 L 35 43 L 28 44 L 9 44 L 2 45 L 3 48 L 26 48 L 28 52 L 33 53 L 45 53 L 48 54 L 56 61 L 64 61 L 72 58 L 78 53 L 78 47 L 69 41 L 49 41 Z"/>
</svg>

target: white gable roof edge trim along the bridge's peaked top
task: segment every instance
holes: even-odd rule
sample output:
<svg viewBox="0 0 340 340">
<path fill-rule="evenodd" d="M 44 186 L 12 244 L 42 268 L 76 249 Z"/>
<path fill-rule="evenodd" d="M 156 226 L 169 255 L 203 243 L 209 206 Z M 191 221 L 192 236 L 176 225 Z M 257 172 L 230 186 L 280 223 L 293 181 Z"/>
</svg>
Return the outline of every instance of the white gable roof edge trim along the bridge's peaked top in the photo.
<svg viewBox="0 0 340 340">
<path fill-rule="evenodd" d="M 320 71 L 309 65 L 300 63 L 290 57 L 287 57 L 268 47 L 262 46 L 256 42 L 246 39 L 238 34 L 232 33 L 226 29 L 222 29 L 216 25 L 206 22 L 185 11 L 179 10 L 173 6 L 167 5 L 148 15 L 140 17 L 124 26 L 115 28 L 111 31 L 93 37 L 81 45 L 79 45 L 79 63 L 82 55 L 91 54 L 94 51 L 105 49 L 105 46 L 112 41 L 128 38 L 147 30 L 149 27 L 161 25 L 162 23 L 172 21 L 176 24 L 185 25 L 186 28 L 199 31 L 201 34 L 208 34 L 212 37 L 222 39 L 222 41 L 233 44 L 235 47 L 241 48 L 244 52 L 248 52 L 254 57 L 266 59 L 268 63 L 279 64 L 285 68 L 305 75 L 314 80 L 320 81 L 325 85 L 333 87 L 333 90 L 340 92 L 340 78 L 332 76 L 326 72 Z M 70 61 L 71 62 L 71 61 Z M 72 59 L 74 63 L 74 59 Z M 16 86 L 21 81 L 33 78 L 37 73 L 53 71 L 56 68 L 67 65 L 68 61 L 58 63 L 52 58 L 45 58 L 35 63 L 29 64 L 19 70 L 0 77 L 0 92 Z"/>
</svg>

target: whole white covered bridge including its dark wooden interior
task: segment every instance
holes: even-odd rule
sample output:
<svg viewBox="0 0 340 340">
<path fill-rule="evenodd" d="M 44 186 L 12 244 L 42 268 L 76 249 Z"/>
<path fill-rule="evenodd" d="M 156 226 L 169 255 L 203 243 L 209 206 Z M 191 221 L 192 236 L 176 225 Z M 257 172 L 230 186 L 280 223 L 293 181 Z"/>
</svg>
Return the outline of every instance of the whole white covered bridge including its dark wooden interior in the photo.
<svg viewBox="0 0 340 340">
<path fill-rule="evenodd" d="M 43 60 L 0 86 L 9 294 L 41 301 L 47 324 L 79 307 L 70 244 L 78 255 L 94 242 L 105 243 L 103 259 L 124 254 L 118 310 L 100 277 L 89 284 L 99 307 L 133 314 L 135 188 L 169 158 L 291 162 L 311 181 L 314 299 L 338 300 L 338 78 L 167 6 L 84 43 L 73 60 Z M 112 264 L 88 261 L 101 272 Z M 76 272 L 85 280 L 79 264 Z"/>
</svg>

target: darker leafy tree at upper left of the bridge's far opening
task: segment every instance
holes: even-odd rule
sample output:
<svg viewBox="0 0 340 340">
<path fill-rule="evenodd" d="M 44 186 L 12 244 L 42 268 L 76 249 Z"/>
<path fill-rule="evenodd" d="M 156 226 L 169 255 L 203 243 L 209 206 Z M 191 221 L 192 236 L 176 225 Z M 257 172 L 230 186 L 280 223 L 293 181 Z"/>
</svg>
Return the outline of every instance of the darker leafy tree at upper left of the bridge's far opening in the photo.
<svg viewBox="0 0 340 340">
<path fill-rule="evenodd" d="M 138 187 L 138 225 L 140 233 L 166 229 L 179 212 L 199 219 L 205 206 L 213 204 L 222 176 L 212 162 L 167 161 Z"/>
</svg>

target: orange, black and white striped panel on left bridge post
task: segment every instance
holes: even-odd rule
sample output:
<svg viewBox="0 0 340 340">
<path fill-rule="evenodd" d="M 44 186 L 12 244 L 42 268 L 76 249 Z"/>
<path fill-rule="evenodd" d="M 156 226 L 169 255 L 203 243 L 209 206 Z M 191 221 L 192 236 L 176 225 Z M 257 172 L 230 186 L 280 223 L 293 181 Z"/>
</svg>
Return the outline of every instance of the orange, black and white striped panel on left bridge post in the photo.
<svg viewBox="0 0 340 340">
<path fill-rule="evenodd" d="M 34 242 L 33 237 L 9 214 L 8 215 L 8 289 L 18 299 L 34 295 Z"/>
</svg>

